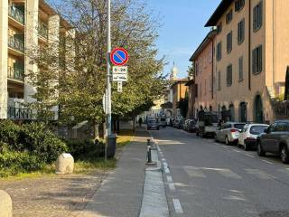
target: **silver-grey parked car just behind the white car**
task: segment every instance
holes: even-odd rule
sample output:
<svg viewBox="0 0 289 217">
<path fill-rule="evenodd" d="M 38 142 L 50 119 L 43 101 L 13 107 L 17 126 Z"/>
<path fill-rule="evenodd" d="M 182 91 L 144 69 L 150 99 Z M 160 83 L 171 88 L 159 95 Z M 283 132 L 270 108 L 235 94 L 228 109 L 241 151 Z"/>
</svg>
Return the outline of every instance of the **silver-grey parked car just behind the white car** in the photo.
<svg viewBox="0 0 289 217">
<path fill-rule="evenodd" d="M 222 124 L 216 132 L 216 141 L 225 142 L 226 145 L 238 144 L 239 133 L 245 125 L 245 123 L 238 122 L 227 122 Z"/>
</svg>

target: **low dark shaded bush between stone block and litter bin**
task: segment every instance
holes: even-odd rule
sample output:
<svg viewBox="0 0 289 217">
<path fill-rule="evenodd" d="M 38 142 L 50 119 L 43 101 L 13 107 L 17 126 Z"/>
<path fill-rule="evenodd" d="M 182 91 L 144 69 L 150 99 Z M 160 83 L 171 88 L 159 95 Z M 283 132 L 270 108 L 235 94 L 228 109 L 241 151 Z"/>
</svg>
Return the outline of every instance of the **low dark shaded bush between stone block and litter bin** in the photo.
<svg viewBox="0 0 289 217">
<path fill-rule="evenodd" d="M 79 141 L 76 139 L 66 140 L 70 154 L 76 160 L 94 160 L 105 156 L 105 144 L 95 144 L 92 140 Z"/>
</svg>

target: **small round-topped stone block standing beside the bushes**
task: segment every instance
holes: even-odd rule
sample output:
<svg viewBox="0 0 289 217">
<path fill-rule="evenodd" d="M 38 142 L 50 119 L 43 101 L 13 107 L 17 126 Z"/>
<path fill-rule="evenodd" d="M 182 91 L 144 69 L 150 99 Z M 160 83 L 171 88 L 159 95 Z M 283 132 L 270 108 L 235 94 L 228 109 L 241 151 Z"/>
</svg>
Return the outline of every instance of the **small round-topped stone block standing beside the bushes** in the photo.
<svg viewBox="0 0 289 217">
<path fill-rule="evenodd" d="M 56 162 L 56 174 L 72 174 L 74 168 L 74 159 L 68 153 L 63 153 L 58 157 Z"/>
</svg>

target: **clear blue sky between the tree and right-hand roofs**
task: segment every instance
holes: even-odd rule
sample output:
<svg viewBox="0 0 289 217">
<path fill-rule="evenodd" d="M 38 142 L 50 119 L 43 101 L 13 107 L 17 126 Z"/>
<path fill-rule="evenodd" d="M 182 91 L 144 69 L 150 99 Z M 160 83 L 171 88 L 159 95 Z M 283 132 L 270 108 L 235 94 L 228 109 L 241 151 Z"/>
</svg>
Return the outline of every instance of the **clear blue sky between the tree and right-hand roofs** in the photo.
<svg viewBox="0 0 289 217">
<path fill-rule="evenodd" d="M 187 76 L 191 54 L 210 31 L 204 28 L 220 0 L 147 0 L 154 14 L 160 14 L 162 24 L 157 40 L 159 55 L 169 62 L 164 73 L 170 73 L 173 61 L 179 78 Z"/>
</svg>

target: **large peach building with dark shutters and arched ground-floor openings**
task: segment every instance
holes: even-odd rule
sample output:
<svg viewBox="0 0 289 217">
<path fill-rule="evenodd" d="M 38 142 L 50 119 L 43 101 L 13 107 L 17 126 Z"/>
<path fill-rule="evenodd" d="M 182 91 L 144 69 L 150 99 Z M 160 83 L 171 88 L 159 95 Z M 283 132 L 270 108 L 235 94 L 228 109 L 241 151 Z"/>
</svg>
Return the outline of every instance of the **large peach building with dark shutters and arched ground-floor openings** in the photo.
<svg viewBox="0 0 289 217">
<path fill-rule="evenodd" d="M 288 8 L 288 0 L 223 0 L 205 25 L 217 26 L 216 100 L 228 119 L 275 119 L 272 99 L 289 64 Z"/>
</svg>

